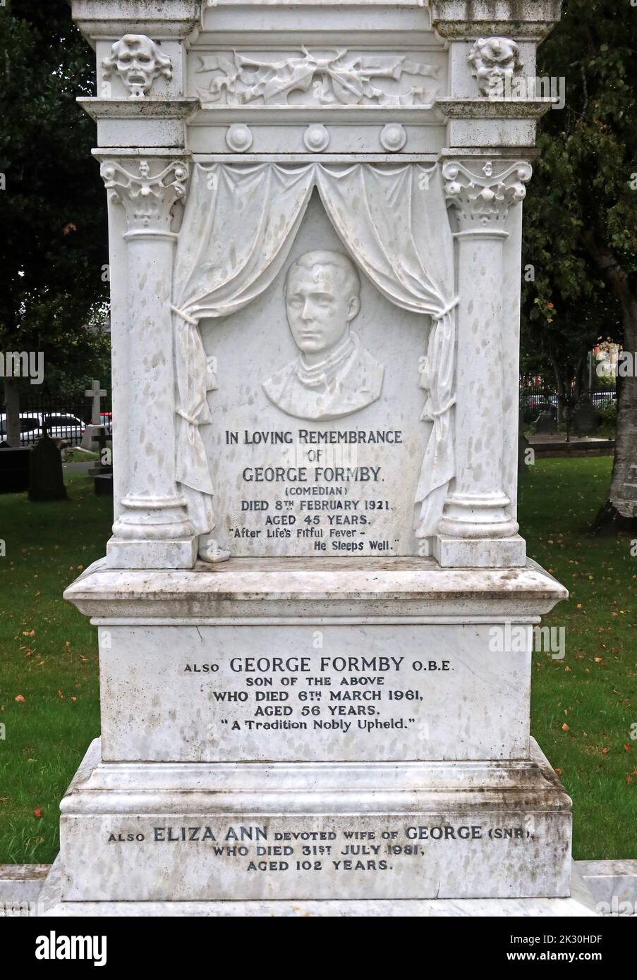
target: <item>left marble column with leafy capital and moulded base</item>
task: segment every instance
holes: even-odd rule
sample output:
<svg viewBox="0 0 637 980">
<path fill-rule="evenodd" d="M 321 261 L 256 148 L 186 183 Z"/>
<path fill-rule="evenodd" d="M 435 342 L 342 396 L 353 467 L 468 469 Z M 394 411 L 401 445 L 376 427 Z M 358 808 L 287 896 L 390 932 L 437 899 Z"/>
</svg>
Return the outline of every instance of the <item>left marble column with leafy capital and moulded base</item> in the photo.
<svg viewBox="0 0 637 980">
<path fill-rule="evenodd" d="M 172 265 L 177 235 L 172 209 L 185 194 L 180 161 L 102 163 L 112 198 L 123 205 L 127 231 L 128 454 L 122 512 L 108 543 L 109 564 L 124 568 L 190 568 L 196 539 L 174 469 Z"/>
</svg>

